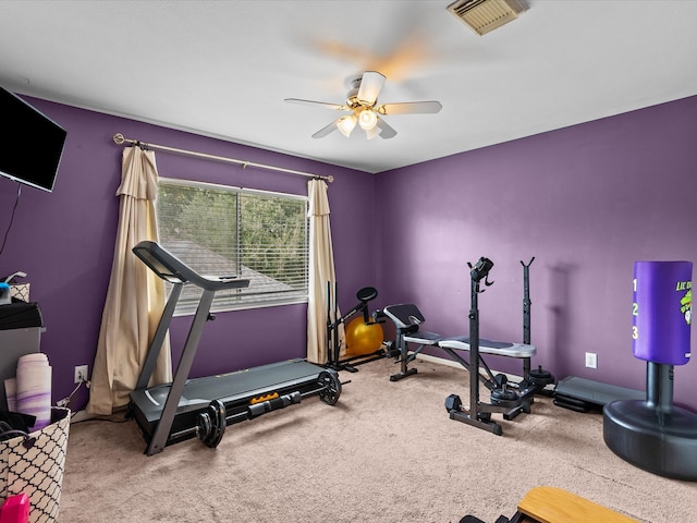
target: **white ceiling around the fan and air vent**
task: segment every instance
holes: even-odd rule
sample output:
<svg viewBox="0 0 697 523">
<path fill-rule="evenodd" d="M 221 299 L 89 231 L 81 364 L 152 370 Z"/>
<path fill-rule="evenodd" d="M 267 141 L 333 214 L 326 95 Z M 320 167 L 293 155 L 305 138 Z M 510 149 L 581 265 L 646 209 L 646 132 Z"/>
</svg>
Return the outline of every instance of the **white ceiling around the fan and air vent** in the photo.
<svg viewBox="0 0 697 523">
<path fill-rule="evenodd" d="M 0 85 L 367 172 L 697 95 L 695 0 L 523 0 L 485 36 L 451 1 L 2 0 Z M 443 109 L 314 139 L 339 114 L 284 102 L 343 104 L 366 70 L 379 102 Z"/>
</svg>

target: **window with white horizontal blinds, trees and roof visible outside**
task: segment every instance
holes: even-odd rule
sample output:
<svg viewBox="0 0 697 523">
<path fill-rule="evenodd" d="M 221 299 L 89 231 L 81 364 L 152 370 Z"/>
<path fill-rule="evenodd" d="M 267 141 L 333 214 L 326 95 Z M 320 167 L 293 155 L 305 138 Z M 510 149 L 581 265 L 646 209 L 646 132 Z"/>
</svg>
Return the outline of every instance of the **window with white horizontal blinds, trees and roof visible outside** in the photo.
<svg viewBox="0 0 697 523">
<path fill-rule="evenodd" d="M 249 280 L 217 292 L 213 312 L 307 302 L 307 206 L 306 196 L 161 178 L 160 244 L 201 275 Z M 184 285 L 175 314 L 193 314 L 200 293 Z"/>
</svg>

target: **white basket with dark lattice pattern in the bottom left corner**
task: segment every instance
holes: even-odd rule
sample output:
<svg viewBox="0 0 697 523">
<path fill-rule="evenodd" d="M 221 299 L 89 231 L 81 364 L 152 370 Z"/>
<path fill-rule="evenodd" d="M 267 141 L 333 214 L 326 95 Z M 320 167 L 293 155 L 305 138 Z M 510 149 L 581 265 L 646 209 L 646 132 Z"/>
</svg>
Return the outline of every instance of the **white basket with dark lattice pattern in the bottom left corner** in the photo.
<svg viewBox="0 0 697 523">
<path fill-rule="evenodd" d="M 0 504 L 26 494 L 30 523 L 54 523 L 63 486 L 70 410 L 53 408 L 52 423 L 26 436 L 0 441 Z"/>
</svg>

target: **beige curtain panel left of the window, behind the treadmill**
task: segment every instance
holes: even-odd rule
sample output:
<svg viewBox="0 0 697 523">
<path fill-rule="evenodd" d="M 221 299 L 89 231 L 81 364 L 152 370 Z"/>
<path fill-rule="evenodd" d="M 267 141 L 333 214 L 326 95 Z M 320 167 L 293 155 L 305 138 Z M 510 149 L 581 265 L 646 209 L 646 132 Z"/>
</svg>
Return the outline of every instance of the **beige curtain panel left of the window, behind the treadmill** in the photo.
<svg viewBox="0 0 697 523">
<path fill-rule="evenodd" d="M 164 282 L 132 252 L 140 241 L 158 240 L 157 180 L 154 151 L 123 150 L 117 241 L 87 404 L 91 414 L 109 415 L 129 403 L 164 308 Z M 168 336 L 150 385 L 171 380 Z"/>
</svg>

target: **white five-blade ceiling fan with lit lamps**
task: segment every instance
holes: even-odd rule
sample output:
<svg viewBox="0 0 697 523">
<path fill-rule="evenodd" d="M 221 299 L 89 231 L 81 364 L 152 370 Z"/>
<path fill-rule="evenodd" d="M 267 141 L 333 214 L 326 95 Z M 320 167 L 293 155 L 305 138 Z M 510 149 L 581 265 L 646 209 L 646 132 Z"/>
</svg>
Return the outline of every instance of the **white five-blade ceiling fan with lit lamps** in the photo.
<svg viewBox="0 0 697 523">
<path fill-rule="evenodd" d="M 313 106 L 319 105 L 348 113 L 339 117 L 329 125 L 317 131 L 313 134 L 313 138 L 323 138 L 337 129 L 348 137 L 357 124 L 366 132 L 368 139 L 376 136 L 388 139 L 396 136 L 396 131 L 388 125 L 381 117 L 390 114 L 432 114 L 441 110 L 442 106 L 439 101 L 405 101 L 378 105 L 378 95 L 386 80 L 384 75 L 377 71 L 366 71 L 360 77 L 351 82 L 352 88 L 344 104 L 327 104 L 298 98 L 286 98 L 285 101 Z"/>
</svg>

